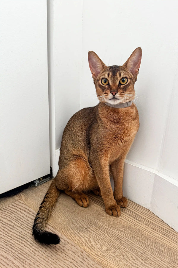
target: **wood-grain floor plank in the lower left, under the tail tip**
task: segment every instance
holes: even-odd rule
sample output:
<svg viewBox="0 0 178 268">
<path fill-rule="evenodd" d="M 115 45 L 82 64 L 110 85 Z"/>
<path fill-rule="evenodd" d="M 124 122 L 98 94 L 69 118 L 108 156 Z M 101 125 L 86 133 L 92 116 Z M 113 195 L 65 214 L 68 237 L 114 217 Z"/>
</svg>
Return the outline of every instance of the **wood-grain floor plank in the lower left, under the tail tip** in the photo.
<svg viewBox="0 0 178 268">
<path fill-rule="evenodd" d="M 62 234 L 60 245 L 37 244 L 31 236 L 35 212 L 21 200 L 0 213 L 0 267 L 102 267 Z"/>
</svg>

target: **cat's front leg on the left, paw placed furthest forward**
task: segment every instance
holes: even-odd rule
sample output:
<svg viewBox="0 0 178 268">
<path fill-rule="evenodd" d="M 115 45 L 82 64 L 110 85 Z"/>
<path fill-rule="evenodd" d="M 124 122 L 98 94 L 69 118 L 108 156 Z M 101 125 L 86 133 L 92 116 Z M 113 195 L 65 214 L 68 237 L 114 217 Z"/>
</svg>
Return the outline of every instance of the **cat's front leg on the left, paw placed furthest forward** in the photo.
<svg viewBox="0 0 178 268">
<path fill-rule="evenodd" d="M 97 156 L 92 156 L 90 158 L 90 163 L 101 189 L 101 196 L 104 200 L 106 212 L 109 215 L 120 216 L 120 206 L 117 205 L 113 196 L 107 160 L 99 159 Z"/>
</svg>

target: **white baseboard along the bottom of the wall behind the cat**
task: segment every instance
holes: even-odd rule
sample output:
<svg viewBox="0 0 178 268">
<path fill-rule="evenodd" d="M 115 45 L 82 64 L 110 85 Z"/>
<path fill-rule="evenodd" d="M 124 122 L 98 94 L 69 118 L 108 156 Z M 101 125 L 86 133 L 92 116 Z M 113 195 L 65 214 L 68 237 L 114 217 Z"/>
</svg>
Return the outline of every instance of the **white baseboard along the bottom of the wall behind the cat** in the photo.
<svg viewBox="0 0 178 268">
<path fill-rule="evenodd" d="M 60 149 L 55 150 L 53 176 L 58 172 Z M 114 187 L 113 181 L 111 181 Z M 178 232 L 178 181 L 157 170 L 126 160 L 123 194 L 148 208 Z"/>
</svg>

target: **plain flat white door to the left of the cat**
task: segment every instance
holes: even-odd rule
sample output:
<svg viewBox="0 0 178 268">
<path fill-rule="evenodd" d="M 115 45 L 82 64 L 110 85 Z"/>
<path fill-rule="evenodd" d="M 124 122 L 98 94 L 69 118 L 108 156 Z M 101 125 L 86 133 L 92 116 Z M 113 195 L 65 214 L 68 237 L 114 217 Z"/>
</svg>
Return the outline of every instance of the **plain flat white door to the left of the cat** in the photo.
<svg viewBox="0 0 178 268">
<path fill-rule="evenodd" d="M 46 0 L 1 0 L 0 193 L 49 173 Z"/>
</svg>

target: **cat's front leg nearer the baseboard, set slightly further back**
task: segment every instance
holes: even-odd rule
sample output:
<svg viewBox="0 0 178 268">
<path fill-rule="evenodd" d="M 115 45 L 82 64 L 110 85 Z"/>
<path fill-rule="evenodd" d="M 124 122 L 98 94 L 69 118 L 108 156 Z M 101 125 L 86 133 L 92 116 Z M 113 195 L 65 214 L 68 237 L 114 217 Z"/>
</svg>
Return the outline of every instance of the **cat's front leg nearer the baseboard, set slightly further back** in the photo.
<svg viewBox="0 0 178 268">
<path fill-rule="evenodd" d="M 125 154 L 111 164 L 111 172 L 114 179 L 114 197 L 118 205 L 125 208 L 127 198 L 123 196 L 123 170 Z"/>
</svg>

